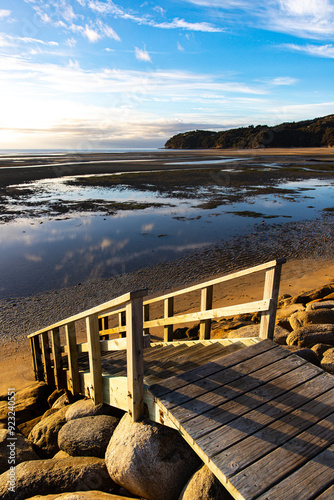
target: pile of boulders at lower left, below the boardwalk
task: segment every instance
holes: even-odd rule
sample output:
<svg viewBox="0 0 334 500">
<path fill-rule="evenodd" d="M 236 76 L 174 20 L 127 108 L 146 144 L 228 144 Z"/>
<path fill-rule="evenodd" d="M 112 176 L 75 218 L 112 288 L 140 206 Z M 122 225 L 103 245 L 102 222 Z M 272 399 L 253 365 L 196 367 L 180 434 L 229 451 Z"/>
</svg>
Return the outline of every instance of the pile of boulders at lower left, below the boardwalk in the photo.
<svg viewBox="0 0 334 500">
<path fill-rule="evenodd" d="M 15 436 L 15 472 L 8 463 L 8 431 L 0 430 L 2 500 L 230 498 L 177 431 L 148 420 L 132 423 L 127 413 L 90 399 L 71 402 L 64 391 L 50 395 L 44 383 L 23 394 L 25 399 L 17 393 L 19 421 L 27 437 Z"/>
</svg>

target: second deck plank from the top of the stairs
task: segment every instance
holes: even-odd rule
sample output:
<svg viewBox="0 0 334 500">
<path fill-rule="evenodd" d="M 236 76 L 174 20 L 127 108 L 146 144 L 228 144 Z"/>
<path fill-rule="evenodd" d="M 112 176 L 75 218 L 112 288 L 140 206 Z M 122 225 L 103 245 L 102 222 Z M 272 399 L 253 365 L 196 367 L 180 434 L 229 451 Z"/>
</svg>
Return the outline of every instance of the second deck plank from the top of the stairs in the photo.
<svg viewBox="0 0 334 500">
<path fill-rule="evenodd" d="M 232 368 L 217 371 L 212 375 L 208 375 L 192 384 L 178 388 L 177 391 L 160 396 L 159 399 L 165 408 L 171 409 L 191 399 L 198 398 L 202 394 L 209 392 L 214 393 L 222 386 L 226 387 L 230 382 L 245 376 L 245 374 L 255 372 L 260 368 L 267 366 L 270 362 L 274 363 L 277 360 L 287 358 L 289 355 L 290 353 L 286 349 L 276 347 L 269 352 L 262 353 L 255 358 L 248 359 L 247 361 L 235 365 Z"/>
</svg>

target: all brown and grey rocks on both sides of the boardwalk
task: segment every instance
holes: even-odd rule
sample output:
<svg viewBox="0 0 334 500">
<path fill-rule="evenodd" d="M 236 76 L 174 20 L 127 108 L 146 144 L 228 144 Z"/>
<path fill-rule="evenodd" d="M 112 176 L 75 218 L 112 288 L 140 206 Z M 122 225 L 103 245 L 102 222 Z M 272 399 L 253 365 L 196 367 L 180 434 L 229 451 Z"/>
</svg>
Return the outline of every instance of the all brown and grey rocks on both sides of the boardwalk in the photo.
<svg viewBox="0 0 334 500">
<path fill-rule="evenodd" d="M 259 315 L 213 324 L 214 337 L 259 333 Z M 198 327 L 176 333 L 193 336 Z M 278 304 L 274 340 L 334 373 L 334 284 Z M 180 434 L 39 382 L 16 393 L 15 467 L 8 460 L 7 402 L 0 398 L 2 500 L 229 500 Z M 13 437 L 13 436 L 11 436 Z M 14 469 L 14 470 L 13 470 Z M 15 476 L 15 491 L 9 488 Z M 74 493 L 75 492 L 75 493 Z"/>
</svg>

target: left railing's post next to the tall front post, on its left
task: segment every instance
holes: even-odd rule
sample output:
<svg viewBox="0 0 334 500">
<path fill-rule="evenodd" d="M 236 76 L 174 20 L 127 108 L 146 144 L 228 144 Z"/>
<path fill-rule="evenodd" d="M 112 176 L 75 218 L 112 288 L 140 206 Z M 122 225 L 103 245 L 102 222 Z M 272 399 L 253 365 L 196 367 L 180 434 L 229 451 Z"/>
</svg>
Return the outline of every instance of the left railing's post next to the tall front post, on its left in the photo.
<svg viewBox="0 0 334 500">
<path fill-rule="evenodd" d="M 95 405 L 103 403 L 101 345 L 98 314 L 86 318 L 89 372 L 91 377 L 90 397 Z"/>
</svg>

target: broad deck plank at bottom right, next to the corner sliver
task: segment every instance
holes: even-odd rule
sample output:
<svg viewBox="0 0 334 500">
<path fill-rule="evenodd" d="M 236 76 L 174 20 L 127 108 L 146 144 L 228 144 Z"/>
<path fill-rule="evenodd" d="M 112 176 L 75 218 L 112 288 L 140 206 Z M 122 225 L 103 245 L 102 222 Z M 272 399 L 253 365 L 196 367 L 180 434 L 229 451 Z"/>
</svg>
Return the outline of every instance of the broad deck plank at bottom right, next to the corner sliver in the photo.
<svg viewBox="0 0 334 500">
<path fill-rule="evenodd" d="M 258 500 L 281 500 L 282 498 L 309 500 L 318 495 L 325 487 L 332 486 L 333 483 L 334 446 L 331 446 L 261 495 Z M 334 490 L 332 490 L 332 494 L 334 494 Z M 333 499 L 334 496 L 331 498 Z"/>
</svg>

